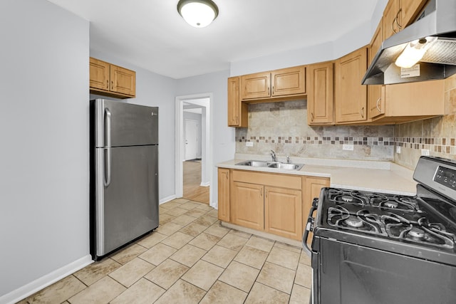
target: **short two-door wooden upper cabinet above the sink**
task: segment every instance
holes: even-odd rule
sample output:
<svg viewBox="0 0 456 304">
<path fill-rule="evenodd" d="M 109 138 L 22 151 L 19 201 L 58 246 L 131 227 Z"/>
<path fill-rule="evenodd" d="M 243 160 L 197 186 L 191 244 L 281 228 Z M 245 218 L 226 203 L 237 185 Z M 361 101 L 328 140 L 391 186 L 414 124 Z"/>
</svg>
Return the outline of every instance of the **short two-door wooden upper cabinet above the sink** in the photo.
<svg viewBox="0 0 456 304">
<path fill-rule="evenodd" d="M 306 94 L 306 67 L 282 68 L 241 76 L 241 100 L 265 100 Z"/>
</svg>

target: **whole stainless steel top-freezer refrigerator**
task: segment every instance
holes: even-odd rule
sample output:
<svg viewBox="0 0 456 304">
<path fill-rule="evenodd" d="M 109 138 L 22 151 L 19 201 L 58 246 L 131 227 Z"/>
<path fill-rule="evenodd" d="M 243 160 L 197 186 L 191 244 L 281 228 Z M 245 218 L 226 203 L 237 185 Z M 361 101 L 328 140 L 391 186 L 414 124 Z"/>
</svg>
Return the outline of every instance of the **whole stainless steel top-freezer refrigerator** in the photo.
<svg viewBox="0 0 456 304">
<path fill-rule="evenodd" d="M 158 226 L 158 108 L 90 100 L 90 254 Z"/>
</svg>

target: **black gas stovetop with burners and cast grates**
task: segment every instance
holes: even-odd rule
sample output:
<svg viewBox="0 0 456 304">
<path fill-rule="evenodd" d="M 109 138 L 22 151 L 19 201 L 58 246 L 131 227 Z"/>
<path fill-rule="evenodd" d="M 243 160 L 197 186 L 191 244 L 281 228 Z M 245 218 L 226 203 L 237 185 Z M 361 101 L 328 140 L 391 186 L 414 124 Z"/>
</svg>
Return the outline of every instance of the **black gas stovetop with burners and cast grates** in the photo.
<svg viewBox="0 0 456 304">
<path fill-rule="evenodd" d="M 456 227 L 417 196 L 327 188 L 322 204 L 321 226 L 327 229 L 450 251 L 456 247 Z"/>
</svg>

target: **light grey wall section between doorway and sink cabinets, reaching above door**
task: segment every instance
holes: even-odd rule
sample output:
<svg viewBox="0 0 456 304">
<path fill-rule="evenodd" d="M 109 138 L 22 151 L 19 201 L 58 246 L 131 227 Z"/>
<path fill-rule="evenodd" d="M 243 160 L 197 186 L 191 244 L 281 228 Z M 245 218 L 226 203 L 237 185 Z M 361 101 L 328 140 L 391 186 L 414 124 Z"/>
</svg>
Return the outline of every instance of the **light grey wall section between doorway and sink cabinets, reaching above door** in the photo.
<svg viewBox="0 0 456 304">
<path fill-rule="evenodd" d="M 234 127 L 227 125 L 227 78 L 229 70 L 177 80 L 177 96 L 212 93 L 212 201 L 217 202 L 217 167 L 234 157 Z"/>
</svg>

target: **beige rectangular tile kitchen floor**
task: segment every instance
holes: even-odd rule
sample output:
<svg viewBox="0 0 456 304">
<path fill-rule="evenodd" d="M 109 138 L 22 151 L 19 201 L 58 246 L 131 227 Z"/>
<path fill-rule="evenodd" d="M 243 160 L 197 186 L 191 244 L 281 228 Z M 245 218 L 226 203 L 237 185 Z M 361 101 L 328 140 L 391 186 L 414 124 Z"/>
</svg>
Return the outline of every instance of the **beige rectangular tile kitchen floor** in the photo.
<svg viewBox="0 0 456 304">
<path fill-rule="evenodd" d="M 207 204 L 160 205 L 160 227 L 24 303 L 309 303 L 301 248 L 220 226 Z"/>
</svg>

